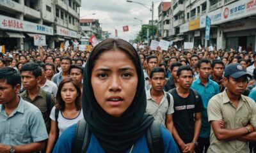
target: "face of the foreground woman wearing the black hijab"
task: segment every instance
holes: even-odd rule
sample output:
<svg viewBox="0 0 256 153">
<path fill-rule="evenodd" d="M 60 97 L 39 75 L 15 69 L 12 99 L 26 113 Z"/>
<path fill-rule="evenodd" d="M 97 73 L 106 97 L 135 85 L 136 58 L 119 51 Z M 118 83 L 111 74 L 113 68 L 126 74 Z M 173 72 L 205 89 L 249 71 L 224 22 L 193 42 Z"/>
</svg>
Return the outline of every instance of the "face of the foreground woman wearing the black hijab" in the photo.
<svg viewBox="0 0 256 153">
<path fill-rule="evenodd" d="M 91 82 L 101 108 L 109 115 L 120 117 L 134 99 L 138 75 L 124 51 L 108 50 L 95 62 Z"/>
</svg>

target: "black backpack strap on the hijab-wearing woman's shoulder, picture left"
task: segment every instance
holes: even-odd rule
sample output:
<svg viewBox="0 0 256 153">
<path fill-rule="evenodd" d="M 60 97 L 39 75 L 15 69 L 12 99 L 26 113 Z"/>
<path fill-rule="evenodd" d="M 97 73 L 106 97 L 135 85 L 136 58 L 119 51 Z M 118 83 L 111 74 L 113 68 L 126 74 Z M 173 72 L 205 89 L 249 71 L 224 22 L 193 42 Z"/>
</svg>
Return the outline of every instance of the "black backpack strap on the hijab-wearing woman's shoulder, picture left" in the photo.
<svg viewBox="0 0 256 153">
<path fill-rule="evenodd" d="M 84 119 L 77 122 L 76 134 L 74 142 L 72 143 L 72 152 L 84 153 L 86 152 L 90 143 L 91 133 L 88 128 L 88 124 Z"/>
</svg>

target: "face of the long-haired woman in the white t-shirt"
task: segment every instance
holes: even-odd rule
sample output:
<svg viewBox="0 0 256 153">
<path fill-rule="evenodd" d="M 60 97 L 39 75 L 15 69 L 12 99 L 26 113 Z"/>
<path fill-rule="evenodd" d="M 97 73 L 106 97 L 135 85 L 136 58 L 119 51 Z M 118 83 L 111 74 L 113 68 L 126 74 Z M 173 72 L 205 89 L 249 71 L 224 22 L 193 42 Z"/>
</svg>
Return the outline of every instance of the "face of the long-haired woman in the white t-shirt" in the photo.
<svg viewBox="0 0 256 153">
<path fill-rule="evenodd" d="M 72 82 L 67 82 L 61 88 L 61 98 L 65 103 L 74 103 L 77 98 L 77 90 L 76 87 L 72 84 Z"/>
</svg>

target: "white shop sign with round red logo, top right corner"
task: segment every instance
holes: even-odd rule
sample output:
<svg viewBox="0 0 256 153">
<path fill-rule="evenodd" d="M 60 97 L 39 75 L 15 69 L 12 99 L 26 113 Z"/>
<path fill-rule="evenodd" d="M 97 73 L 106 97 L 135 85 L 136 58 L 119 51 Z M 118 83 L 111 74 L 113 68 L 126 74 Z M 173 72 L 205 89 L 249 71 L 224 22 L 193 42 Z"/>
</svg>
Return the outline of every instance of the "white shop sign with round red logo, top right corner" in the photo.
<svg viewBox="0 0 256 153">
<path fill-rule="evenodd" d="M 227 22 L 228 20 L 235 20 L 236 18 L 247 17 L 249 15 L 256 14 L 256 1 L 244 0 L 237 1 L 222 8 L 222 20 Z"/>
</svg>

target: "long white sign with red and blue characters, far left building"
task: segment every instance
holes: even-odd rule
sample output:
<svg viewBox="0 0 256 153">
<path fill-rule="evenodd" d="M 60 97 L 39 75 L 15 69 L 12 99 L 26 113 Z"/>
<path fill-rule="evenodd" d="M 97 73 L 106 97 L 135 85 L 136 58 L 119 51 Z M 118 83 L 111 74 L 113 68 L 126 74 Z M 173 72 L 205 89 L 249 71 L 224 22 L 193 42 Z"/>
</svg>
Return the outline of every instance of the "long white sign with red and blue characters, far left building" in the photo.
<svg viewBox="0 0 256 153">
<path fill-rule="evenodd" d="M 53 35 L 52 27 L 0 15 L 0 29 Z"/>
</svg>

